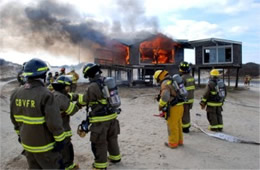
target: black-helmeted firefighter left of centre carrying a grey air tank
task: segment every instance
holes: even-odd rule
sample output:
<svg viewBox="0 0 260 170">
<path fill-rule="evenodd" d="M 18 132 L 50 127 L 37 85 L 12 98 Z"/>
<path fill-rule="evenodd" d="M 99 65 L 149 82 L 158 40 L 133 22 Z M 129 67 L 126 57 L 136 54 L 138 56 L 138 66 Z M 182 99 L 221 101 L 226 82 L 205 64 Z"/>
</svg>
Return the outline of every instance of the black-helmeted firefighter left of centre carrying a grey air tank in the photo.
<svg viewBox="0 0 260 170">
<path fill-rule="evenodd" d="M 88 78 L 90 84 L 84 95 L 79 95 L 78 99 L 81 105 L 87 105 L 87 108 L 91 108 L 88 118 L 91 124 L 89 130 L 91 132 L 91 148 L 95 157 L 93 163 L 95 169 L 107 168 L 107 152 L 110 162 L 118 163 L 121 161 L 118 146 L 118 134 L 120 133 L 118 113 L 109 111 L 107 107 L 108 101 L 104 98 L 100 86 L 104 80 L 101 73 L 100 66 L 94 63 L 88 63 L 83 67 L 84 78 Z"/>
</svg>

